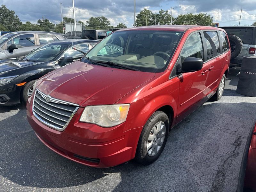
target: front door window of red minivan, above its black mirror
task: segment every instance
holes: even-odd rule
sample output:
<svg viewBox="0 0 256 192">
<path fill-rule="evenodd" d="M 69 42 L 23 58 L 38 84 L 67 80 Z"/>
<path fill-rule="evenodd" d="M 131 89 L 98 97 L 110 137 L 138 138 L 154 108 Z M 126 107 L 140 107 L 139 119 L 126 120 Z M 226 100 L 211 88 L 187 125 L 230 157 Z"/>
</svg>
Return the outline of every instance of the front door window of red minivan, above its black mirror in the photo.
<svg viewBox="0 0 256 192">
<path fill-rule="evenodd" d="M 203 45 L 199 33 L 195 33 L 188 38 L 188 40 L 184 44 L 180 56 L 181 63 L 188 57 L 196 57 L 203 60 Z"/>
</svg>

